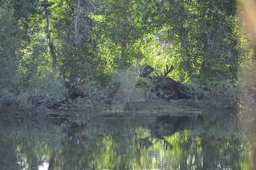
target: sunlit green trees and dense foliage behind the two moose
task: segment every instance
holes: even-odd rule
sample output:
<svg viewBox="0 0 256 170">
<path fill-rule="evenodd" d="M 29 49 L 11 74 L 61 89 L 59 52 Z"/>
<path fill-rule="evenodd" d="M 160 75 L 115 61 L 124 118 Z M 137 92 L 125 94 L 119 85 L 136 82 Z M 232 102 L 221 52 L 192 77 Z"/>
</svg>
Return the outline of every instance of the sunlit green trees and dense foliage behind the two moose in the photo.
<svg viewBox="0 0 256 170">
<path fill-rule="evenodd" d="M 58 93 L 72 73 L 104 86 L 138 61 L 172 65 L 179 82 L 236 84 L 255 59 L 246 12 L 236 0 L 0 0 L 0 90 Z"/>
</svg>

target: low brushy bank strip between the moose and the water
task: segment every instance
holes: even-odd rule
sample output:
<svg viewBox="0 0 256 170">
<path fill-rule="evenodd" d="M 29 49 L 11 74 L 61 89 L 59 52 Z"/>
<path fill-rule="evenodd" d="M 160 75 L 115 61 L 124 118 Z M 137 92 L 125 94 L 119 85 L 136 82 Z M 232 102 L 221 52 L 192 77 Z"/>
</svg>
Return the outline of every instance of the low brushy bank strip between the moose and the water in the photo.
<svg viewBox="0 0 256 170">
<path fill-rule="evenodd" d="M 92 101 L 90 104 L 73 104 L 68 110 L 51 110 L 44 107 L 27 107 L 20 108 L 20 103 L 15 100 L 0 102 L 0 115 L 46 115 L 46 114 L 65 114 L 71 117 L 81 115 L 105 115 L 116 113 L 140 113 L 140 114 L 159 114 L 162 112 L 171 113 L 202 113 L 204 110 L 236 110 L 238 109 L 237 102 L 222 100 L 216 97 L 215 99 L 202 99 L 199 102 L 194 100 L 168 102 L 161 99 L 149 99 L 145 102 L 129 102 L 121 107 L 113 107 L 111 101 L 97 102 Z"/>
</svg>

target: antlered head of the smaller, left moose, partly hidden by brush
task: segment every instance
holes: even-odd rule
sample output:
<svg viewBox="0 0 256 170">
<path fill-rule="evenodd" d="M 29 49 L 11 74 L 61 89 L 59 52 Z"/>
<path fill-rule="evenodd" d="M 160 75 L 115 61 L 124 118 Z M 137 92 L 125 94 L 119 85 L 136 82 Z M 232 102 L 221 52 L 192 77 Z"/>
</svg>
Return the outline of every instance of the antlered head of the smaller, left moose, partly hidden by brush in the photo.
<svg viewBox="0 0 256 170">
<path fill-rule="evenodd" d="M 84 90 L 81 89 L 78 85 L 85 84 L 85 81 L 78 78 L 78 74 L 71 74 L 68 77 L 69 81 L 65 81 L 66 88 L 68 89 L 68 98 L 69 99 L 76 99 L 79 96 L 81 98 L 85 97 Z"/>
</svg>

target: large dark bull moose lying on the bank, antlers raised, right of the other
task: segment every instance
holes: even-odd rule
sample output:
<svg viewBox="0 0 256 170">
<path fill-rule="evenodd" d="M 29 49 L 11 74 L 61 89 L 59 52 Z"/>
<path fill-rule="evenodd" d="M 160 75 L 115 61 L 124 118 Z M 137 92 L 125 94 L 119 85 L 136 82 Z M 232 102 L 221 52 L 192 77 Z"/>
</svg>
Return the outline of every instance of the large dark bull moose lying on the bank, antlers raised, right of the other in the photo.
<svg viewBox="0 0 256 170">
<path fill-rule="evenodd" d="M 151 79 L 155 91 L 157 91 L 157 95 L 159 95 L 162 98 L 176 101 L 179 99 L 190 99 L 191 94 L 190 90 L 187 86 L 182 85 L 179 82 L 176 82 L 170 77 L 166 77 L 172 70 L 174 69 L 173 66 L 171 66 L 168 69 L 168 66 L 166 65 L 166 70 L 164 70 L 164 75 L 158 75 L 156 73 L 156 76 L 150 77 L 150 73 L 154 71 L 154 68 L 150 66 L 146 66 L 144 69 L 140 67 L 139 75 L 141 77 L 146 77 Z M 159 91 L 163 91 L 164 95 L 160 95 Z M 194 98 L 197 100 L 197 96 L 194 96 Z"/>
</svg>

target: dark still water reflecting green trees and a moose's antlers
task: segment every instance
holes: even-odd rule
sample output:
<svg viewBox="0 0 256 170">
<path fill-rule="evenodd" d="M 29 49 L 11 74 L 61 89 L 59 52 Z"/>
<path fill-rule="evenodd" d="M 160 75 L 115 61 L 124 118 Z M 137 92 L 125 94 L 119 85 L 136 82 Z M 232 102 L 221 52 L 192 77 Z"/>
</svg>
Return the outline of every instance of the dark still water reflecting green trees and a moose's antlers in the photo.
<svg viewBox="0 0 256 170">
<path fill-rule="evenodd" d="M 256 121 L 223 113 L 0 119 L 0 170 L 255 170 Z"/>
</svg>

